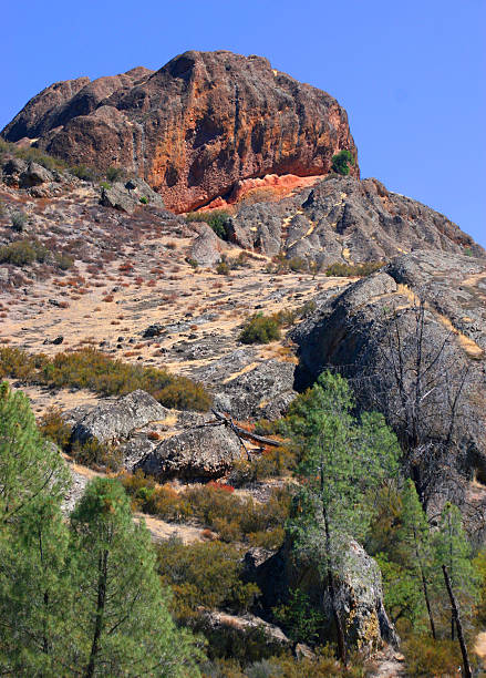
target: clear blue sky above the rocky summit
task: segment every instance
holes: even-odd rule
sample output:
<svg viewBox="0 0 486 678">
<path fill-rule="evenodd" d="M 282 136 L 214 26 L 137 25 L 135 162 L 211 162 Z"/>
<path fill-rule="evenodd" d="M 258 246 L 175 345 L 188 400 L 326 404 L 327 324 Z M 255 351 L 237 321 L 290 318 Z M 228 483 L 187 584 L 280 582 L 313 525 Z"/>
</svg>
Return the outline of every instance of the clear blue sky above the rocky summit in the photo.
<svg viewBox="0 0 486 678">
<path fill-rule="evenodd" d="M 486 246 L 485 38 L 485 0 L 6 2 L 0 127 L 59 80 L 188 49 L 261 54 L 344 105 L 363 177 Z"/>
</svg>

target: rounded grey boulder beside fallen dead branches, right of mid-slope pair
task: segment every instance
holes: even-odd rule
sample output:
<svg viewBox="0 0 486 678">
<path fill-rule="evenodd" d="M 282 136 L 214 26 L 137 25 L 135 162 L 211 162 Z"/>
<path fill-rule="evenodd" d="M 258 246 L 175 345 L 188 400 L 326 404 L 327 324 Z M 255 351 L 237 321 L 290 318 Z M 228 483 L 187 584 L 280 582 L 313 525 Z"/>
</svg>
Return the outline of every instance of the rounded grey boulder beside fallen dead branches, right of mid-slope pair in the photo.
<svg viewBox="0 0 486 678">
<path fill-rule="evenodd" d="M 236 435 L 223 427 L 185 431 L 159 443 L 134 470 L 158 480 L 217 479 L 228 473 L 240 456 Z"/>
</svg>

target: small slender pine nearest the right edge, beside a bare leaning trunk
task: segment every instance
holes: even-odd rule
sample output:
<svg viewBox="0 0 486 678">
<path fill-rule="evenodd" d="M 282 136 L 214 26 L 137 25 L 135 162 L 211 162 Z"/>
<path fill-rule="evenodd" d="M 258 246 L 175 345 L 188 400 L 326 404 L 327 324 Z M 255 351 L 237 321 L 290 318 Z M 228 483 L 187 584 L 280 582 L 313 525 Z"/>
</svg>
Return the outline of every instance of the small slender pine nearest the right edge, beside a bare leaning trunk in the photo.
<svg viewBox="0 0 486 678">
<path fill-rule="evenodd" d="M 437 593 L 446 604 L 442 579 L 442 566 L 447 567 L 451 586 L 461 605 L 463 622 L 467 622 L 478 598 L 478 577 L 471 561 L 472 549 L 463 528 L 461 511 L 447 502 L 441 516 L 441 525 L 434 537 Z M 438 586 L 438 583 L 442 586 Z M 447 606 L 448 607 L 448 606 Z M 455 637 L 454 617 L 451 612 L 451 639 Z"/>
</svg>

